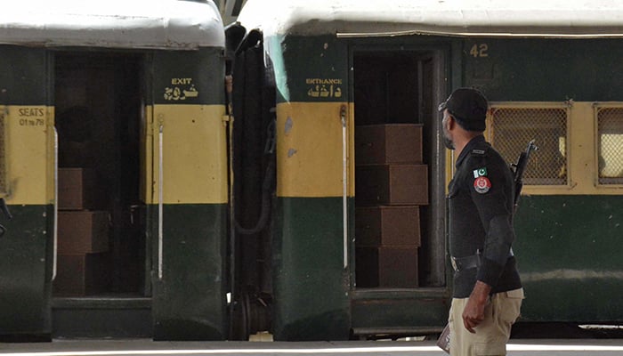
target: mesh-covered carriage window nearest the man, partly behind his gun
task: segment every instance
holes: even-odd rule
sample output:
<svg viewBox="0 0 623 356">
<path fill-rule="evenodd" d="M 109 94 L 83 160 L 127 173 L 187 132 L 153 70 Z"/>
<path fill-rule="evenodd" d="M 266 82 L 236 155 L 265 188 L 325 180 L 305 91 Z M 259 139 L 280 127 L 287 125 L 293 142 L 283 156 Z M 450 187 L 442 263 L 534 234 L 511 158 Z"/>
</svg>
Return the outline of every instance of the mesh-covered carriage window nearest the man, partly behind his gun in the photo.
<svg viewBox="0 0 623 356">
<path fill-rule="evenodd" d="M 530 155 L 523 183 L 567 184 L 567 117 L 560 107 L 495 107 L 490 110 L 490 142 L 509 163 L 515 163 L 528 142 L 538 150 Z"/>
</svg>

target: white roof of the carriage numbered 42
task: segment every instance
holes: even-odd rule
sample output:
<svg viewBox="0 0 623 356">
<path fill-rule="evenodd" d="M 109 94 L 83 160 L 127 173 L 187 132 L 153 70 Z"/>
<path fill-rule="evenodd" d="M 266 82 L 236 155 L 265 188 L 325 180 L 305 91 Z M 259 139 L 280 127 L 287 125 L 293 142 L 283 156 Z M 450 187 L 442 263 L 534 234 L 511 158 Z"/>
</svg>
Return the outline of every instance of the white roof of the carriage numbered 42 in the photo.
<svg viewBox="0 0 623 356">
<path fill-rule="evenodd" d="M 248 0 L 239 15 L 264 35 L 623 36 L 620 0 Z"/>
</svg>

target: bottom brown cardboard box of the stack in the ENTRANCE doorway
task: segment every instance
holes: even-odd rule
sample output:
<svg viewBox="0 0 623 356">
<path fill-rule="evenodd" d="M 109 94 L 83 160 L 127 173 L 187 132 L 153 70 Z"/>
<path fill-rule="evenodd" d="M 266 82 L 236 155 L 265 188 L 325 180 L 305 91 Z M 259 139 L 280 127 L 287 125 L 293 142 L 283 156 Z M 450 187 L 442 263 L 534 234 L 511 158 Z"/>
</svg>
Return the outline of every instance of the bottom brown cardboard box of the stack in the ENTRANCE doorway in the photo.
<svg viewBox="0 0 623 356">
<path fill-rule="evenodd" d="M 355 249 L 357 287 L 418 287 L 417 247 Z"/>
</svg>

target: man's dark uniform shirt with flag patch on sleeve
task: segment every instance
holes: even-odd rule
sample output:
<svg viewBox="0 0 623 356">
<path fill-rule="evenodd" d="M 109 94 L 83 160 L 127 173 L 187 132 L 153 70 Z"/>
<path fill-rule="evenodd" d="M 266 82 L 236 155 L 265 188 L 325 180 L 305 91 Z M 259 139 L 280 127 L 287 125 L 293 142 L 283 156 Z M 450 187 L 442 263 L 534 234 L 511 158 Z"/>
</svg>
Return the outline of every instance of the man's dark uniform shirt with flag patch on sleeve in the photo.
<svg viewBox="0 0 623 356">
<path fill-rule="evenodd" d="M 469 297 L 476 280 L 490 285 L 491 293 L 522 287 L 511 248 L 513 172 L 484 136 L 474 137 L 458 156 L 448 198 L 450 255 L 480 255 L 478 267 L 455 271 L 453 297 Z"/>
</svg>

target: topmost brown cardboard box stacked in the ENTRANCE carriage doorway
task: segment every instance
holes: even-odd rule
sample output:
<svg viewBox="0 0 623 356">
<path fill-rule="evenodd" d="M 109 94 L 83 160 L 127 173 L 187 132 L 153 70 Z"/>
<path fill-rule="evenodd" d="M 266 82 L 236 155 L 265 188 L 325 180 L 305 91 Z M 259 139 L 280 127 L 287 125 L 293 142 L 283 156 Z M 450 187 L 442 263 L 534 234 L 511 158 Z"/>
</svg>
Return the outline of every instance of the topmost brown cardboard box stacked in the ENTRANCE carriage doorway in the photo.
<svg viewBox="0 0 623 356">
<path fill-rule="evenodd" d="M 422 163 L 422 125 L 385 124 L 355 126 L 357 165 Z"/>
</svg>

